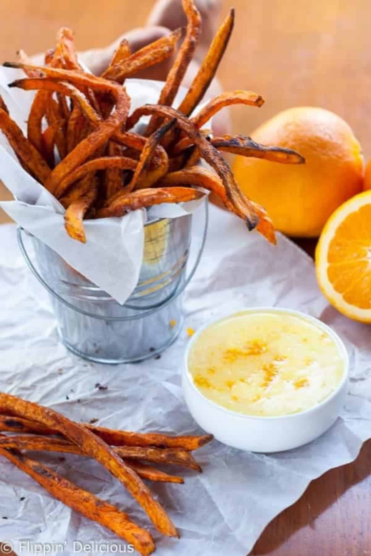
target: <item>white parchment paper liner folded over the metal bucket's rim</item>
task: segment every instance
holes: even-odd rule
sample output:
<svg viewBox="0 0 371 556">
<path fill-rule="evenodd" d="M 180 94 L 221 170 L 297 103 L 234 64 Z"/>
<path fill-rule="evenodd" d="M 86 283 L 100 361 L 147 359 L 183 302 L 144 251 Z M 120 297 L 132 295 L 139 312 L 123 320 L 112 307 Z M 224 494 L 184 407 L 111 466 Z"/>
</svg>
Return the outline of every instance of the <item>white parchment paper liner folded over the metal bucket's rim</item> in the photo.
<svg viewBox="0 0 371 556">
<path fill-rule="evenodd" d="M 7 103 L 12 118 L 25 130 L 33 92 L 7 86 L 24 77 L 21 70 L 0 67 L 0 95 Z M 162 86 L 159 81 L 127 80 L 131 110 L 145 103 L 156 103 Z M 175 106 L 184 95 L 181 88 Z M 145 122 L 148 118 L 142 118 Z M 128 213 L 122 218 L 88 220 L 85 222 L 86 244 L 72 240 L 64 228 L 65 209 L 34 180 L 19 164 L 12 148 L 0 132 L 0 180 L 13 193 L 16 201 L 3 201 L 0 206 L 8 215 L 44 241 L 68 264 L 107 291 L 123 304 L 135 288 L 143 258 L 145 209 Z M 163 203 L 151 209 L 151 219 L 176 218 L 193 212 L 200 202 L 176 205 Z"/>
</svg>

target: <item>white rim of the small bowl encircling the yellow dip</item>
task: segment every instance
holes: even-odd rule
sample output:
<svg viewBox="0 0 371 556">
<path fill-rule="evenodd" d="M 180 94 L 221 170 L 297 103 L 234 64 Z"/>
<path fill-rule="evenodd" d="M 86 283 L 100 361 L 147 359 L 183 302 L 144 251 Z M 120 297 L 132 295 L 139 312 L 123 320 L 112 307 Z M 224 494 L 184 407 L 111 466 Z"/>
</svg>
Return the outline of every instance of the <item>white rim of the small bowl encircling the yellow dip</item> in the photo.
<svg viewBox="0 0 371 556">
<path fill-rule="evenodd" d="M 206 330 L 206 328 L 209 328 L 210 326 L 213 326 L 215 324 L 217 324 L 218 322 L 224 321 L 224 320 L 228 320 L 231 317 L 234 316 L 240 316 L 240 315 L 244 315 L 244 314 L 249 314 L 249 313 L 254 313 L 254 312 L 273 312 L 275 314 L 291 314 L 294 316 L 298 316 L 301 317 L 302 319 L 311 322 L 312 324 L 315 324 L 316 326 L 320 327 L 321 329 L 323 329 L 324 331 L 327 332 L 327 334 L 332 337 L 332 339 L 334 340 L 335 344 L 338 347 L 339 350 L 339 354 L 340 356 L 342 356 L 343 361 L 344 361 L 344 371 L 343 371 L 343 378 L 340 381 L 340 383 L 338 384 L 337 388 L 335 388 L 335 390 L 326 398 L 324 398 L 323 400 L 320 401 L 319 404 L 314 405 L 311 408 L 305 409 L 304 411 L 298 411 L 297 413 L 289 413 L 286 415 L 245 415 L 244 413 L 238 413 L 238 411 L 233 411 L 231 409 L 227 409 L 224 408 L 222 405 L 217 404 L 215 401 L 209 400 L 209 398 L 206 398 L 206 396 L 204 396 L 204 394 L 202 394 L 202 392 L 196 387 L 194 381 L 192 380 L 192 376 L 190 374 L 189 371 L 189 366 L 188 366 L 188 360 L 189 360 L 189 354 L 190 351 L 192 349 L 192 346 L 194 345 L 195 341 L 197 340 L 197 337 L 199 337 L 199 335 Z M 189 343 L 187 344 L 185 353 L 184 353 L 184 366 L 183 366 L 183 376 L 185 378 L 185 380 L 187 380 L 189 382 L 189 384 L 191 385 L 191 389 L 192 391 L 201 398 L 201 400 L 206 401 L 206 403 L 211 407 L 211 409 L 217 409 L 219 411 L 221 411 L 221 413 L 225 413 L 227 415 L 233 415 L 234 417 L 238 417 L 240 419 L 246 419 L 246 420 L 258 420 L 258 421 L 277 421 L 277 420 L 285 420 L 285 419 L 297 419 L 303 415 L 309 415 L 311 413 L 315 413 L 315 411 L 318 411 L 321 407 L 327 405 L 330 403 L 330 401 L 332 401 L 339 393 L 340 391 L 343 390 L 344 385 L 346 385 L 348 383 L 349 380 L 349 355 L 348 355 L 348 351 L 347 348 L 345 347 L 345 344 L 343 342 L 343 340 L 340 338 L 340 336 L 337 334 L 337 332 L 335 332 L 332 328 L 330 328 L 330 326 L 328 326 L 327 324 L 325 324 L 324 322 L 322 322 L 321 320 L 317 319 L 314 316 L 308 315 L 304 312 L 301 311 L 297 311 L 295 309 L 288 309 L 286 307 L 269 307 L 269 306 L 257 306 L 257 307 L 245 307 L 244 309 L 239 309 L 239 310 L 235 310 L 232 311 L 230 313 L 225 314 L 224 316 L 219 316 L 217 317 L 217 319 L 212 319 L 206 322 L 206 324 L 204 324 L 203 326 L 201 326 L 200 329 L 198 329 L 195 334 L 191 337 L 191 340 L 189 341 Z"/>
</svg>

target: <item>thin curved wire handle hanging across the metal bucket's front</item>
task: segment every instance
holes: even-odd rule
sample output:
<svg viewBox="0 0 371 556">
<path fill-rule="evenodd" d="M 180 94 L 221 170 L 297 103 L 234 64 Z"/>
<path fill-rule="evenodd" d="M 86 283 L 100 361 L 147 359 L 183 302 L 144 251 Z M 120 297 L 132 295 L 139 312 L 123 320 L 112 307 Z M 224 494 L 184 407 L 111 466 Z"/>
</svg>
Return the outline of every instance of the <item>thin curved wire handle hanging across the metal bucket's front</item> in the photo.
<svg viewBox="0 0 371 556">
<path fill-rule="evenodd" d="M 201 240 L 201 245 L 200 245 L 200 249 L 199 252 L 197 253 L 196 256 L 196 260 L 194 262 L 194 265 L 192 266 L 192 269 L 189 272 L 189 275 L 186 277 L 186 280 L 182 283 L 182 285 L 180 287 L 178 287 L 177 290 L 175 290 L 174 294 L 171 295 L 169 297 L 169 299 L 167 299 L 166 301 L 164 301 L 164 303 L 160 304 L 157 307 L 154 307 L 153 309 L 147 310 L 147 311 L 143 311 L 141 312 L 141 314 L 139 315 L 132 315 L 132 316 L 125 316 L 125 317 L 108 317 L 107 316 L 103 316 L 103 315 L 92 315 L 90 312 L 88 311 L 84 311 L 83 309 L 80 309 L 79 307 L 76 307 L 75 305 L 72 305 L 72 303 L 68 302 L 66 299 L 64 299 L 63 297 L 61 297 L 59 294 L 57 294 L 56 291 L 54 291 L 52 289 L 52 287 L 50 287 L 50 285 L 43 279 L 43 277 L 39 274 L 38 270 L 36 269 L 36 267 L 33 265 L 33 262 L 31 261 L 31 259 L 28 256 L 26 247 L 24 246 L 23 243 L 23 239 L 22 239 L 22 231 L 23 228 L 21 226 L 18 226 L 17 228 L 17 239 L 18 239 L 18 245 L 19 245 L 19 249 L 21 249 L 22 255 L 24 257 L 24 259 L 27 262 L 27 265 L 29 266 L 29 269 L 31 269 L 32 273 L 34 276 L 36 276 L 37 280 L 40 282 L 40 284 L 42 284 L 44 286 L 44 288 L 51 294 L 53 295 L 58 301 L 60 301 L 61 303 L 63 303 L 64 305 L 66 305 L 69 309 L 72 309 L 73 311 L 77 311 L 80 312 L 82 315 L 86 315 L 89 317 L 93 317 L 94 319 L 98 319 L 98 320 L 114 320 L 114 321 L 125 321 L 125 320 L 135 320 L 135 319 L 141 319 L 144 316 L 148 316 L 151 315 L 152 313 L 158 311 L 159 309 L 162 309 L 163 307 L 165 307 L 168 303 L 170 303 L 171 301 L 173 301 L 177 296 L 179 296 L 180 294 L 182 294 L 182 292 L 184 292 L 186 286 L 189 284 L 189 282 L 191 281 L 193 275 L 196 272 L 197 266 L 199 265 L 200 259 L 201 259 L 201 255 L 202 255 L 202 251 L 204 250 L 204 246 L 205 246 L 205 241 L 206 241 L 206 232 L 207 232 L 207 224 L 209 221 L 209 211 L 208 211 L 208 203 L 207 203 L 207 198 L 204 202 L 204 207 L 205 207 L 205 223 L 204 223 L 204 230 L 202 233 L 202 240 Z M 192 246 L 192 242 L 191 242 L 191 246 Z M 126 307 L 125 304 L 123 304 L 123 307 Z M 129 308 L 132 308 L 130 306 L 128 306 Z"/>
</svg>

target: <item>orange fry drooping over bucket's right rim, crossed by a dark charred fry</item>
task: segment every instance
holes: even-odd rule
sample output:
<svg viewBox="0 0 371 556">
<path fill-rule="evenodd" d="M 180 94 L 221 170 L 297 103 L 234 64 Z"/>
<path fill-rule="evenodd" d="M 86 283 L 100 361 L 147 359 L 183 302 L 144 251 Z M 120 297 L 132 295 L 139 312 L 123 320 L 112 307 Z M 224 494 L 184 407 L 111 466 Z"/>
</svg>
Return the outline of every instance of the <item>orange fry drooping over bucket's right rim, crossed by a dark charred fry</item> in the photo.
<svg viewBox="0 0 371 556">
<path fill-rule="evenodd" d="M 244 219 L 244 213 L 240 213 L 238 210 L 236 210 L 235 206 L 228 198 L 225 187 L 220 180 L 220 177 L 216 176 L 214 173 L 211 173 L 209 170 L 206 170 L 206 168 L 202 168 L 201 166 L 194 166 L 193 168 L 187 168 L 186 170 L 169 173 L 167 174 L 167 176 L 162 178 L 160 182 L 160 187 L 179 185 L 199 185 L 201 187 L 204 187 L 205 189 L 208 189 L 209 191 L 212 191 L 217 197 L 220 198 L 227 209 L 229 209 L 231 212 L 234 212 L 240 218 Z M 275 245 L 276 236 L 273 224 L 269 216 L 266 214 L 263 207 L 257 205 L 254 207 L 254 209 L 259 215 L 259 224 L 256 229 L 262 235 L 264 235 L 271 244 Z"/>
</svg>

